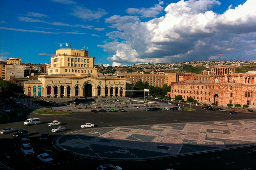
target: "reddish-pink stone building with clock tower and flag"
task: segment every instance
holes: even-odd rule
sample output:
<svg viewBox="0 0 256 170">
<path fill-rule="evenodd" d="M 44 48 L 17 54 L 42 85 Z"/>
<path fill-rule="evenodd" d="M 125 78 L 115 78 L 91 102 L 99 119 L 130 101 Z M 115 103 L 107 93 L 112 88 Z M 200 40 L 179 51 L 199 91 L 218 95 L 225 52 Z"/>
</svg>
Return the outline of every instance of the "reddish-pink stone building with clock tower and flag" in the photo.
<svg viewBox="0 0 256 170">
<path fill-rule="evenodd" d="M 192 97 L 200 103 L 226 106 L 249 105 L 256 107 L 256 72 L 235 73 L 235 66 L 214 65 L 211 67 L 211 75 L 195 76 L 194 80 L 183 79 L 171 84 L 171 92 L 168 97 L 175 98 L 181 95 L 184 100 Z"/>
</svg>

